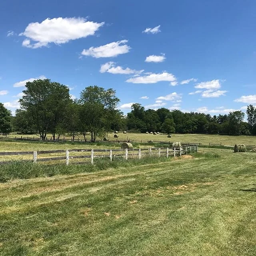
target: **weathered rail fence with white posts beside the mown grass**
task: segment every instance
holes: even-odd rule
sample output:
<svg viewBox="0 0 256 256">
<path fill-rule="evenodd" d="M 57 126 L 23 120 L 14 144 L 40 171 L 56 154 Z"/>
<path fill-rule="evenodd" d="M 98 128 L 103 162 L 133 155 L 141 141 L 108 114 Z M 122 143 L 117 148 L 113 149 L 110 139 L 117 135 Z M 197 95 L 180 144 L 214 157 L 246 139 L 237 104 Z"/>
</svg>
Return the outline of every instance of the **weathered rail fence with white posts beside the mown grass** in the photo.
<svg viewBox="0 0 256 256">
<path fill-rule="evenodd" d="M 88 155 L 78 155 L 78 156 L 70 156 L 70 152 L 90 152 Z M 94 153 L 97 152 L 108 152 L 109 154 L 97 155 Z M 115 153 L 116 152 L 116 153 Z M 120 153 L 119 153 L 120 152 Z M 129 153 L 130 152 L 130 153 Z M 18 151 L 18 152 L 0 152 L 0 156 L 20 156 L 20 155 L 32 155 L 33 163 L 37 162 L 47 162 L 47 161 L 56 161 L 56 160 L 65 160 L 66 165 L 70 164 L 70 159 L 81 159 L 81 158 L 90 158 L 90 163 L 94 164 L 95 158 L 109 158 L 110 161 L 113 160 L 113 157 L 123 157 L 125 160 L 128 160 L 128 156 L 135 157 L 141 159 L 142 156 L 163 156 L 165 155 L 167 158 L 170 156 L 182 156 L 183 154 L 191 154 L 192 152 L 198 152 L 198 146 L 189 146 L 184 148 L 142 148 L 142 149 L 71 149 L 71 150 L 40 150 L 40 151 Z M 42 154 L 53 154 L 53 153 L 65 153 L 66 156 L 56 156 L 56 157 L 46 157 L 46 158 L 38 158 L 38 155 Z M 0 164 L 10 163 L 12 161 L 3 161 Z M 86 162 L 84 162 L 85 164 Z M 74 162 L 76 164 L 76 162 Z"/>
</svg>

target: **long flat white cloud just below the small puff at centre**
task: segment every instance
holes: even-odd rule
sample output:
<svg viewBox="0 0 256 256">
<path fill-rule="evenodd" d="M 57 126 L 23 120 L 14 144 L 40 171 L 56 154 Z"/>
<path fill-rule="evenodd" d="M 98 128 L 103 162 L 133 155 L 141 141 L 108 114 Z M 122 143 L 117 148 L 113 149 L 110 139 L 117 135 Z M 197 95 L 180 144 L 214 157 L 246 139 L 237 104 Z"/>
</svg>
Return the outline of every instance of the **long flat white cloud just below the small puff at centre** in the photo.
<svg viewBox="0 0 256 256">
<path fill-rule="evenodd" d="M 173 74 L 163 72 L 159 74 L 149 74 L 148 76 L 133 77 L 126 80 L 126 82 L 133 84 L 155 84 L 161 81 L 174 82 L 176 81 L 176 77 Z"/>
</svg>

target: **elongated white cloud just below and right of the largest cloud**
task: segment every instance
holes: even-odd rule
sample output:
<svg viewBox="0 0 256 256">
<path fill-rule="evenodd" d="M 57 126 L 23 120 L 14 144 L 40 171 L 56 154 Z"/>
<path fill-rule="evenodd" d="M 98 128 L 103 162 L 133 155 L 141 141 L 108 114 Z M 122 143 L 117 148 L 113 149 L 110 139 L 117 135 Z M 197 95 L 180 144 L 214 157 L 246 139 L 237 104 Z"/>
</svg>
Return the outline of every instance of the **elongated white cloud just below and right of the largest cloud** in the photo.
<svg viewBox="0 0 256 256">
<path fill-rule="evenodd" d="M 84 56 L 92 56 L 94 58 L 116 57 L 119 54 L 125 54 L 130 51 L 131 48 L 126 44 L 127 42 L 128 40 L 121 40 L 99 47 L 90 47 L 88 50 L 84 49 L 81 54 Z"/>
</svg>

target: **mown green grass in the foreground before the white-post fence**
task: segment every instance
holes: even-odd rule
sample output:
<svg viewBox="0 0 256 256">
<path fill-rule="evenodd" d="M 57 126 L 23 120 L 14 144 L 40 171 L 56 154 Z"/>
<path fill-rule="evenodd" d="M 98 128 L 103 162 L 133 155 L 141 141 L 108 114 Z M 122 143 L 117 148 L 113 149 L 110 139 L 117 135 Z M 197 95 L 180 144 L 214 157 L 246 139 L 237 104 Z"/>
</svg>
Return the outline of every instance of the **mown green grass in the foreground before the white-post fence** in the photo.
<svg viewBox="0 0 256 256">
<path fill-rule="evenodd" d="M 256 254 L 256 155 L 0 184 L 0 255 Z"/>
</svg>

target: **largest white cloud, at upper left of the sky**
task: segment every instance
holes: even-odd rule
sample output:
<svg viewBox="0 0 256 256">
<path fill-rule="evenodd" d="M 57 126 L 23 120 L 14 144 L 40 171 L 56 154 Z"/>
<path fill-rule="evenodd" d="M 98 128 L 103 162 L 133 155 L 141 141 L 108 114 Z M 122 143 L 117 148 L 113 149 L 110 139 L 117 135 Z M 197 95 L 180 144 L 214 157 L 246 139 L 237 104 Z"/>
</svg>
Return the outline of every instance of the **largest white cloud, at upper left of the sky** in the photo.
<svg viewBox="0 0 256 256">
<path fill-rule="evenodd" d="M 70 40 L 92 36 L 103 25 L 104 22 L 87 21 L 85 18 L 47 18 L 41 23 L 28 24 L 19 35 L 26 36 L 22 46 L 35 49 L 49 43 L 65 44 Z"/>
</svg>

